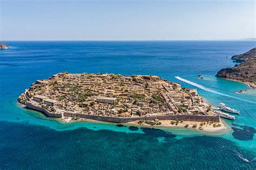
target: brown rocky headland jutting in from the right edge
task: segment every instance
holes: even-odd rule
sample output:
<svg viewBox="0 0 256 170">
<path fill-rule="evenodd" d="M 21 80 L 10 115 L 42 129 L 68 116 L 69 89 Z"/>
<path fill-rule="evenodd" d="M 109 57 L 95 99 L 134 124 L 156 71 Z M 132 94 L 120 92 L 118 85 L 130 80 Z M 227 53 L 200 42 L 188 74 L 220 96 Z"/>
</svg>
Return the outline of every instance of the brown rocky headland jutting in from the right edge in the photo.
<svg viewBox="0 0 256 170">
<path fill-rule="evenodd" d="M 240 62 L 232 68 L 223 68 L 217 73 L 217 77 L 243 82 L 251 88 L 256 88 L 256 48 L 250 51 L 232 56 L 234 62 Z"/>
</svg>

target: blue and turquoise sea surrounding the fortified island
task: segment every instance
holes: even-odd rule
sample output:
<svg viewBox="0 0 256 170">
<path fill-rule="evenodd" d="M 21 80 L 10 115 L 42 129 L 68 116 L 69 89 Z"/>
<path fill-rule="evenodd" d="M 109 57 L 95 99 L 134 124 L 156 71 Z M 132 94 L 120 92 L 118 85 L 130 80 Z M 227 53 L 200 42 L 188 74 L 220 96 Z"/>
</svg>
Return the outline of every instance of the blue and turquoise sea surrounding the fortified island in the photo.
<svg viewBox="0 0 256 170">
<path fill-rule="evenodd" d="M 256 90 L 215 77 L 255 41 L 6 41 L 0 51 L 0 169 L 255 169 Z M 239 109 L 229 129 L 131 128 L 26 110 L 17 97 L 59 72 L 158 75 Z M 198 79 L 198 75 L 205 79 Z M 200 85 L 200 86 L 198 86 Z M 203 87 L 202 87 L 203 86 Z M 246 90 L 235 94 L 235 91 Z M 245 162 L 247 158 L 249 162 Z"/>
</svg>

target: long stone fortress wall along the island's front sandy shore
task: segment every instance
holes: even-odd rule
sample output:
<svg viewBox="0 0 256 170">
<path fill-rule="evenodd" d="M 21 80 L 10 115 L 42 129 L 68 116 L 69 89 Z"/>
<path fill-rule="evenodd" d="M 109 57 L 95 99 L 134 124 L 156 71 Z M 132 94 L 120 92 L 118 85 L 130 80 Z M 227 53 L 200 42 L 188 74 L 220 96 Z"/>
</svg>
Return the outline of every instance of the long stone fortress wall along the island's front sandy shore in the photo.
<svg viewBox="0 0 256 170">
<path fill-rule="evenodd" d="M 72 112 L 65 112 L 64 116 L 72 117 L 79 116 L 81 118 L 93 119 L 102 122 L 112 122 L 112 123 L 127 123 L 139 120 L 183 120 L 183 121 L 195 121 L 195 122 L 220 122 L 219 116 L 198 116 L 198 115 L 167 115 L 167 116 L 151 116 L 151 117 L 108 117 L 108 116 L 96 116 L 96 115 L 84 115 L 84 114 L 74 114 Z"/>
</svg>

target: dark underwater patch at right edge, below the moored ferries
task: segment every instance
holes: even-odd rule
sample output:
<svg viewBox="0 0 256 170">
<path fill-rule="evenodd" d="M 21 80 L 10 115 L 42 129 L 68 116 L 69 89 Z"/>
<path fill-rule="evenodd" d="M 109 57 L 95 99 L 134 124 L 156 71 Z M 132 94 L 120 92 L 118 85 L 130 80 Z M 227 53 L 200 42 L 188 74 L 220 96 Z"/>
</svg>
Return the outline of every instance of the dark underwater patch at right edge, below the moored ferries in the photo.
<svg viewBox="0 0 256 170">
<path fill-rule="evenodd" d="M 241 125 L 235 124 L 235 123 L 232 123 L 232 125 L 242 128 L 242 129 L 240 129 L 240 128 L 232 127 L 232 130 L 234 131 L 232 133 L 232 135 L 235 139 L 238 139 L 238 140 L 252 140 L 253 136 L 254 136 L 254 133 L 256 133 L 256 129 L 254 129 L 253 127 L 246 126 L 246 125 L 241 126 Z"/>
</svg>

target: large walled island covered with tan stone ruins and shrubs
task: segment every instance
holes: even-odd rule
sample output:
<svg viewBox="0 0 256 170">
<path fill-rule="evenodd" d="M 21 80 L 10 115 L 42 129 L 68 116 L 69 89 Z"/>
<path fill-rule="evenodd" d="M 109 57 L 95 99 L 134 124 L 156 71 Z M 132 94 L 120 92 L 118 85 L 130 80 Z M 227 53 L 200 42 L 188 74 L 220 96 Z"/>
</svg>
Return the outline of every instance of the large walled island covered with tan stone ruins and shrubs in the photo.
<svg viewBox="0 0 256 170">
<path fill-rule="evenodd" d="M 62 119 L 152 123 L 161 120 L 220 123 L 219 115 L 198 95 L 154 75 L 58 73 L 37 80 L 18 102 Z M 159 124 L 159 123 L 155 123 Z"/>
</svg>

